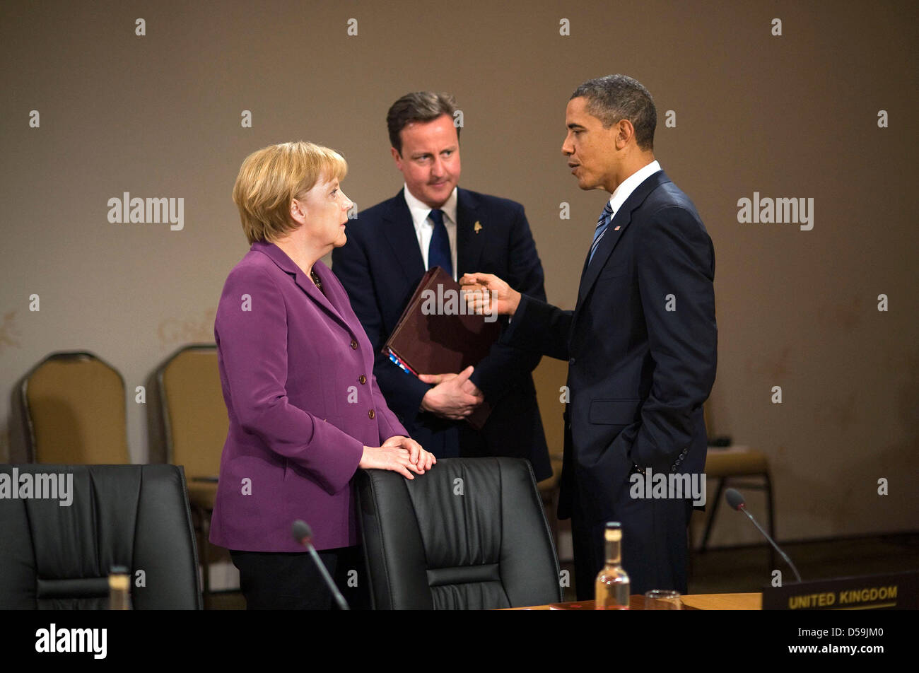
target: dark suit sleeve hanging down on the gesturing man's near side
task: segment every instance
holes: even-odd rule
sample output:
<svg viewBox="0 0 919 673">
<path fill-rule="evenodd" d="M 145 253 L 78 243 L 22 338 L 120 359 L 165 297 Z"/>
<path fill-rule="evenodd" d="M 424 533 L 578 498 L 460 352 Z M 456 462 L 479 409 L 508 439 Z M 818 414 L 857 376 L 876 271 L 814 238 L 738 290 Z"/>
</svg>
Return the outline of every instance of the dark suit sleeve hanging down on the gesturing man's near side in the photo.
<svg viewBox="0 0 919 673">
<path fill-rule="evenodd" d="M 642 224 L 636 245 L 654 369 L 630 458 L 641 467 L 669 472 L 691 445 L 693 413 L 715 381 L 714 248 L 698 218 L 679 207 L 662 209 Z"/>
</svg>

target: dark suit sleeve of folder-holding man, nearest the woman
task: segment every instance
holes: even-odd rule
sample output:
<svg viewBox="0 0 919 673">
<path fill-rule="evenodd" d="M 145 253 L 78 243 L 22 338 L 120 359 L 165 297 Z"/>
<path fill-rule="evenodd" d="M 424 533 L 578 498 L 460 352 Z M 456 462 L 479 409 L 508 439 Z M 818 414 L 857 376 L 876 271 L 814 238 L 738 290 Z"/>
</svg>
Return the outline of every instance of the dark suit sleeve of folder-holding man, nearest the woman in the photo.
<svg viewBox="0 0 919 673">
<path fill-rule="evenodd" d="M 345 287 L 351 308 L 373 346 L 373 374 L 389 408 L 402 419 L 414 418 L 421 409 L 421 399 L 431 386 L 402 371 L 380 353 L 389 335 L 383 328 L 374 283 L 385 282 L 385 279 L 372 277 L 363 241 L 357 234 L 352 234 L 345 245 L 332 251 L 332 270 Z"/>
</svg>

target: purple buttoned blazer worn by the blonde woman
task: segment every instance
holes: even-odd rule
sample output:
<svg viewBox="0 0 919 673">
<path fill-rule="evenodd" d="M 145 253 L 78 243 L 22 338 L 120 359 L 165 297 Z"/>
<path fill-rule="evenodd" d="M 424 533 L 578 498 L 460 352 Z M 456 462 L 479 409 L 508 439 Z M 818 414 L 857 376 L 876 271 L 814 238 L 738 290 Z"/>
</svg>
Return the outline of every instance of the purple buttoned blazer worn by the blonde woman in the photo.
<svg viewBox="0 0 919 673">
<path fill-rule="evenodd" d="M 323 292 L 277 245 L 256 242 L 223 285 L 214 323 L 230 429 L 210 542 L 249 552 L 358 543 L 352 477 L 363 447 L 407 435 L 373 377 L 373 350 L 331 269 Z"/>
</svg>

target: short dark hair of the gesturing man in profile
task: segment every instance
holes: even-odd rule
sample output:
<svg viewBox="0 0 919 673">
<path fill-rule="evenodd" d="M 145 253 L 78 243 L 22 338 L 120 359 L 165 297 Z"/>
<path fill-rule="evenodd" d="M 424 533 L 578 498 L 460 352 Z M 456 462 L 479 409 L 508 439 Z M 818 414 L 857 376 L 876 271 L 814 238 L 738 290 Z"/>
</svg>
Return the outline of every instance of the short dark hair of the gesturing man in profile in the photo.
<svg viewBox="0 0 919 673">
<path fill-rule="evenodd" d="M 635 142 L 642 150 L 654 149 L 657 108 L 651 92 L 627 74 L 607 74 L 589 79 L 574 89 L 572 98 L 587 99 L 587 111 L 609 128 L 618 120 L 630 120 Z"/>
</svg>

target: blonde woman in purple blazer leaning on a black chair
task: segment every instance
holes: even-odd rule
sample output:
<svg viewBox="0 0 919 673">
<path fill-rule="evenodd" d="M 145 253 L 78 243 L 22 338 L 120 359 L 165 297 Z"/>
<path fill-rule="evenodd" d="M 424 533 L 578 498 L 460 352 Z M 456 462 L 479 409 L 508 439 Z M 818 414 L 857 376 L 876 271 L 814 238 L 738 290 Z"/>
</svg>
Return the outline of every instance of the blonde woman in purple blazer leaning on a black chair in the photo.
<svg viewBox="0 0 919 673">
<path fill-rule="evenodd" d="M 437 462 L 392 414 L 345 289 L 320 260 L 345 245 L 345 160 L 312 143 L 250 154 L 233 188 L 249 252 L 223 285 L 214 324 L 230 429 L 210 542 L 231 550 L 249 609 L 328 609 L 312 543 L 346 594 L 366 587 L 357 468 L 407 479 Z M 357 575 L 353 571 L 357 571 Z M 342 580 L 345 580 L 344 582 Z"/>
</svg>

